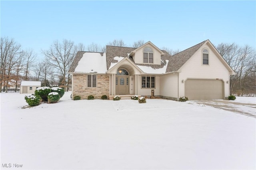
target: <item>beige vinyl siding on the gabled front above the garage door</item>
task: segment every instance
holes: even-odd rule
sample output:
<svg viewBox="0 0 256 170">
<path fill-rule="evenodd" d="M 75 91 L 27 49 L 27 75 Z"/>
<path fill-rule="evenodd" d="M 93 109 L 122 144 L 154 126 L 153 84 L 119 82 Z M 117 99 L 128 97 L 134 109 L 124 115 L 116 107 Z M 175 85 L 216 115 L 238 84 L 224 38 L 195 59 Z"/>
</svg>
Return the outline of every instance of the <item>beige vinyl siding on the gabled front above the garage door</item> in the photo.
<svg viewBox="0 0 256 170">
<path fill-rule="evenodd" d="M 209 51 L 209 64 L 202 64 L 202 49 Z M 229 95 L 229 72 L 214 52 L 208 47 L 203 45 L 198 51 L 190 57 L 190 59 L 180 68 L 179 85 L 180 96 L 185 96 L 185 83 L 186 79 L 219 79 L 224 81 L 224 94 L 225 97 Z M 184 80 L 184 83 L 182 83 Z"/>
</svg>

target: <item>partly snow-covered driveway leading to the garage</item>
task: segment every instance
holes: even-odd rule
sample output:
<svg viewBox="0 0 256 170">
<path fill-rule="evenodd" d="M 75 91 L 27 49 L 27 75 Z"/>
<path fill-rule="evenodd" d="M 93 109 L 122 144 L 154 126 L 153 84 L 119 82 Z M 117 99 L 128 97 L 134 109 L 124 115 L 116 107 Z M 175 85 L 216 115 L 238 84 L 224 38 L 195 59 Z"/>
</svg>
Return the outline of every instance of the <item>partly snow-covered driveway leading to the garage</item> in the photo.
<svg viewBox="0 0 256 170">
<path fill-rule="evenodd" d="M 237 97 L 235 101 L 229 100 L 201 100 L 190 101 L 200 105 L 212 106 L 218 109 L 239 113 L 256 118 L 256 97 Z"/>
</svg>

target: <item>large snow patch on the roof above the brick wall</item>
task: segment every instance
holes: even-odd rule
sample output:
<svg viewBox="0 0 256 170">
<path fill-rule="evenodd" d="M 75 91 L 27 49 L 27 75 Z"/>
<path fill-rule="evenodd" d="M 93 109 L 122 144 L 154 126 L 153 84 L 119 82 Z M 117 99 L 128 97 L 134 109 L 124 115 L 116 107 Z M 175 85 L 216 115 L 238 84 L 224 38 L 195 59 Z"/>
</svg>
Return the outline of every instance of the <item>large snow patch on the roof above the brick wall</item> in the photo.
<svg viewBox="0 0 256 170">
<path fill-rule="evenodd" d="M 107 60 L 106 53 L 86 52 L 78 62 L 75 72 L 83 73 L 106 73 Z"/>
</svg>

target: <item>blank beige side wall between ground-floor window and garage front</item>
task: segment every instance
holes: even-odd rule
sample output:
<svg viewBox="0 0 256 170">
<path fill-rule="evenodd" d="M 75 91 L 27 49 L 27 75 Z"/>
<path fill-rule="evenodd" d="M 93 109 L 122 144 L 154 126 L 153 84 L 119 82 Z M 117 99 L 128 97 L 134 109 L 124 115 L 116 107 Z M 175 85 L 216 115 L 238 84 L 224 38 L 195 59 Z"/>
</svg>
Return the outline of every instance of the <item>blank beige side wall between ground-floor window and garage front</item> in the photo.
<svg viewBox="0 0 256 170">
<path fill-rule="evenodd" d="M 160 77 L 160 95 L 178 97 L 178 74 L 167 74 Z"/>
</svg>

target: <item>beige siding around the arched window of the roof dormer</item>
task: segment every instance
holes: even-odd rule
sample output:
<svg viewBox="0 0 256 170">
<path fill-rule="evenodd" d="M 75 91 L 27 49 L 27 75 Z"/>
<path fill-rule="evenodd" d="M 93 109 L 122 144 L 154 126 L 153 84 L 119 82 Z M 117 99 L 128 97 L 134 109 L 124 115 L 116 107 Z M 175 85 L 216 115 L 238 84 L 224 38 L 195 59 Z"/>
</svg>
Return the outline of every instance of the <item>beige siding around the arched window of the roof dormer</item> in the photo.
<svg viewBox="0 0 256 170">
<path fill-rule="evenodd" d="M 153 63 L 149 63 L 149 64 L 161 64 L 161 53 L 159 51 L 157 51 L 151 45 L 146 45 L 145 47 L 150 47 L 154 51 Z M 145 47 L 140 48 L 140 49 L 138 49 L 138 51 L 136 51 L 135 58 L 133 57 L 136 64 L 145 64 L 145 63 L 143 63 L 143 49 Z"/>
</svg>

